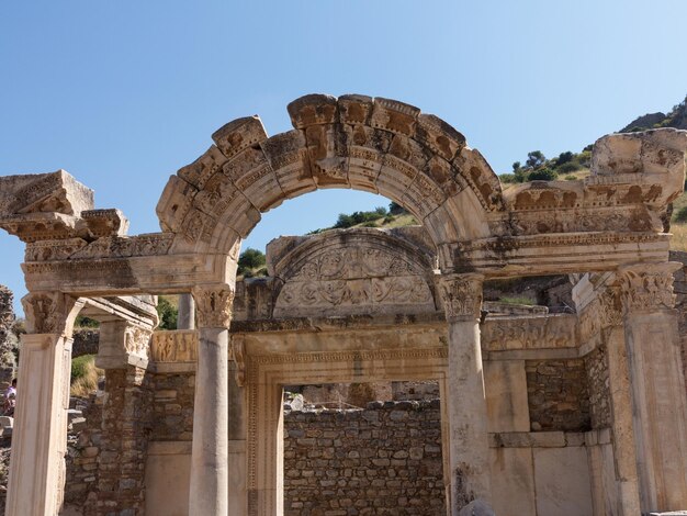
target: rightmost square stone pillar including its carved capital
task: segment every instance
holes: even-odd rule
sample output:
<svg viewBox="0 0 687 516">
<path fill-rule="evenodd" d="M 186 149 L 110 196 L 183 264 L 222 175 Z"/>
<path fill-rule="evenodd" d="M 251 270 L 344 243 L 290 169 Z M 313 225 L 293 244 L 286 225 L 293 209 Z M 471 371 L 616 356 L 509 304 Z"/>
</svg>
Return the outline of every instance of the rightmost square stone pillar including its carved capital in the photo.
<svg viewBox="0 0 687 516">
<path fill-rule="evenodd" d="M 680 267 L 641 263 L 618 271 L 642 513 L 687 507 L 687 400 L 673 294 Z"/>
</svg>

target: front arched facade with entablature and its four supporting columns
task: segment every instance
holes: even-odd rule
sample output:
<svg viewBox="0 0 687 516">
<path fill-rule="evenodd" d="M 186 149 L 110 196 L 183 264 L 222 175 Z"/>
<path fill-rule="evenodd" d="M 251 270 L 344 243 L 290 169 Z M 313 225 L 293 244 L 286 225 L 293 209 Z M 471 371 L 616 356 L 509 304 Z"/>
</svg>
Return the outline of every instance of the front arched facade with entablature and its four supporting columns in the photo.
<svg viewBox="0 0 687 516">
<path fill-rule="evenodd" d="M 626 417 L 615 431 L 631 435 L 634 446 L 631 453 L 616 450 L 627 453 L 615 464 L 616 483 L 608 487 L 617 491 L 613 503 L 622 514 L 637 514 L 640 503 L 642 511 L 684 508 L 686 408 L 684 395 L 673 393 L 680 385 L 684 393 L 683 372 L 675 367 L 679 354 L 672 306 L 672 271 L 678 266 L 668 262 L 664 225 L 667 205 L 684 188 L 687 133 L 608 135 L 595 145 L 589 178 L 533 181 L 504 191 L 460 133 L 408 104 L 363 96 L 306 96 L 292 102 L 289 113 L 294 130 L 272 137 L 255 116 L 218 130 L 214 145 L 170 178 L 157 206 L 160 233 L 127 236 L 124 215 L 95 210 L 92 192 L 63 170 L 0 178 L 0 227 L 26 243 L 22 267 L 32 334 L 23 346 L 34 358 L 22 360 L 20 389 L 40 370 L 36 391 L 49 393 L 31 411 L 18 411 L 15 446 L 34 452 L 13 456 L 8 514 L 54 515 L 59 506 L 59 495 L 53 493 L 59 493 L 63 482 L 65 368 L 75 306 L 95 304 L 112 323 L 109 335 L 116 345 L 109 349 L 116 352 L 110 367 L 145 371 L 151 315 L 136 314 L 149 312 L 144 294 L 166 292 L 191 292 L 199 323 L 194 351 L 189 350 L 191 334 L 185 334 L 180 352 L 199 379 L 189 514 L 224 515 L 229 506 L 251 515 L 281 514 L 278 478 L 259 489 L 250 482 L 246 486 L 243 456 L 227 451 L 227 442 L 240 441 L 229 436 L 241 431 L 234 423 L 243 417 L 244 396 L 239 386 L 233 397 L 228 394 L 229 367 L 240 372 L 240 363 L 249 369 L 251 360 L 244 347 L 229 343 L 227 328 L 241 238 L 261 213 L 318 188 L 379 192 L 396 201 L 423 223 L 436 248 L 437 270 L 424 278 L 448 322 L 441 374 L 450 514 L 473 500 L 493 497 L 480 341 L 482 282 L 565 272 L 579 274 L 579 327 L 588 343 L 610 339 L 628 348 L 622 363 L 632 379 L 631 399 L 623 403 L 632 405 L 635 418 L 628 423 Z M 384 236 L 374 238 L 380 250 Z M 309 250 L 304 247 L 304 265 L 326 245 L 323 238 Z M 406 265 L 425 260 L 421 248 L 420 240 L 395 244 L 413 258 Z M 301 273 L 297 256 L 288 261 L 291 266 L 275 265 L 285 278 L 274 281 Z M 339 280 L 372 283 L 373 272 Z M 347 299 L 374 295 L 360 281 L 357 290 L 346 291 Z M 275 310 L 284 306 L 281 295 L 286 293 L 278 289 Z M 594 306 L 601 306 L 600 312 Z M 399 303 L 395 310 L 403 312 Z M 656 348 L 653 355 L 647 339 Z M 593 346 L 588 343 L 583 344 Z M 167 351 L 159 348 L 154 356 L 171 356 Z M 652 366 L 656 357 L 672 364 L 665 375 Z M 274 394 L 268 401 L 273 405 L 278 399 Z M 669 411 L 658 403 L 665 399 L 672 401 Z M 38 442 L 40 448 L 33 446 Z M 628 459 L 633 453 L 641 457 Z M 668 458 L 675 459 L 669 467 Z"/>
</svg>

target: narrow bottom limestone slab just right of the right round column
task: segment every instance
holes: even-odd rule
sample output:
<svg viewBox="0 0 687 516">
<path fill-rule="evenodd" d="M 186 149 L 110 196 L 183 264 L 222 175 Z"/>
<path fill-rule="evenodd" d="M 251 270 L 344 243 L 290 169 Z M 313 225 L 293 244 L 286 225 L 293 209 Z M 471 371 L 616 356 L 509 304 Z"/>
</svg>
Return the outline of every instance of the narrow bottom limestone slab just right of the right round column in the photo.
<svg viewBox="0 0 687 516">
<path fill-rule="evenodd" d="M 498 516 L 537 514 L 532 450 L 496 448 L 489 455 L 494 512 Z"/>
</svg>

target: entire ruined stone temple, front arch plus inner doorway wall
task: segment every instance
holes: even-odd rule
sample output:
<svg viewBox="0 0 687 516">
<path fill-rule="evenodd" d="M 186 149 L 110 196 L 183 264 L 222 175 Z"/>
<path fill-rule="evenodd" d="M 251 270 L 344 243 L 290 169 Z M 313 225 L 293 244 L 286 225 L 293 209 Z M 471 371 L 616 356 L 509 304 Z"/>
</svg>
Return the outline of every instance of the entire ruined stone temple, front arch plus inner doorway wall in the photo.
<svg viewBox="0 0 687 516">
<path fill-rule="evenodd" d="M 65 171 L 0 178 L 0 227 L 26 243 L 20 391 L 32 382 L 7 514 L 63 505 L 78 313 L 101 322 L 111 391 L 88 514 L 284 514 L 283 385 L 399 380 L 439 384 L 447 514 L 687 508 L 682 265 L 664 233 L 686 132 L 605 136 L 589 178 L 503 190 L 410 105 L 307 96 L 289 113 L 272 137 L 257 117 L 217 131 L 170 178 L 156 234 L 127 236 Z M 379 192 L 424 229 L 277 240 L 269 278 L 236 284 L 260 213 L 318 188 Z M 485 280 L 560 273 L 577 314 L 482 321 Z M 154 334 L 157 293 L 191 293 L 196 329 Z"/>
</svg>

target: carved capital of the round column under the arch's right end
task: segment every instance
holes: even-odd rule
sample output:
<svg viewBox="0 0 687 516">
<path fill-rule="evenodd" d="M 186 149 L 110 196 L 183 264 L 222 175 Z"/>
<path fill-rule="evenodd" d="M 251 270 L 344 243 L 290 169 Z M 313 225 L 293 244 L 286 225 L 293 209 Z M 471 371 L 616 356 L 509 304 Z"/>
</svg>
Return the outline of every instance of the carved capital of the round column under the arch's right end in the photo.
<svg viewBox="0 0 687 516">
<path fill-rule="evenodd" d="M 482 307 L 482 274 L 442 274 L 439 295 L 449 323 L 480 318 Z"/>
</svg>

